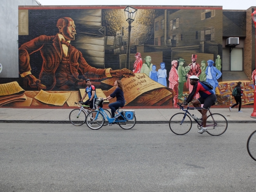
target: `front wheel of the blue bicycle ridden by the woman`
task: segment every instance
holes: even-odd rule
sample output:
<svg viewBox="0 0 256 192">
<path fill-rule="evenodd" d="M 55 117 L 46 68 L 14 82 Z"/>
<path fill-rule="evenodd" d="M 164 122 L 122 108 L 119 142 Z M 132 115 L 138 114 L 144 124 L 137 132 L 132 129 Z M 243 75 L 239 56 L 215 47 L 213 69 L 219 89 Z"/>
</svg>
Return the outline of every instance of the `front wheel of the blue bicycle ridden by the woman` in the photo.
<svg viewBox="0 0 256 192">
<path fill-rule="evenodd" d="M 95 118 L 94 120 L 91 118 L 92 115 L 97 115 L 98 113 L 98 117 Z M 97 130 L 97 129 L 100 129 L 103 124 L 104 124 L 104 117 L 103 115 L 100 113 L 100 111 L 92 111 L 91 113 L 89 113 L 86 117 L 86 120 L 85 120 L 87 126 L 90 128 L 90 129 L 93 129 L 93 130 Z"/>
</svg>

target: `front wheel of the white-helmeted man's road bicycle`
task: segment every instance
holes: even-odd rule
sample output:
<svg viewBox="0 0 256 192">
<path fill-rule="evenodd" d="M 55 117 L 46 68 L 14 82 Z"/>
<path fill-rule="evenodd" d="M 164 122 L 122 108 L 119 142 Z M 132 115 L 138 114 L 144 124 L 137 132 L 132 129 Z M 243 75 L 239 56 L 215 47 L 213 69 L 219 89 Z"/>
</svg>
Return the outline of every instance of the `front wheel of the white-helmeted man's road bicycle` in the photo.
<svg viewBox="0 0 256 192">
<path fill-rule="evenodd" d="M 182 122 L 183 118 L 184 121 Z M 177 113 L 171 117 L 169 127 L 176 135 L 184 135 L 191 129 L 192 121 L 187 114 L 185 116 L 184 113 Z"/>
</svg>

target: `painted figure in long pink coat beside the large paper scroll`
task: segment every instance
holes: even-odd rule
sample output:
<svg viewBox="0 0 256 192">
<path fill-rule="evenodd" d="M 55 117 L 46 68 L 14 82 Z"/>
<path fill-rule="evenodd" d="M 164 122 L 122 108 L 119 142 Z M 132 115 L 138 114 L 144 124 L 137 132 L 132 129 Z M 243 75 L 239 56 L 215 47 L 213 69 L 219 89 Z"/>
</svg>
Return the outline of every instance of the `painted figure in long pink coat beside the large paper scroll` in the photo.
<svg viewBox="0 0 256 192">
<path fill-rule="evenodd" d="M 178 100 L 178 86 L 179 86 L 179 76 L 178 76 L 178 71 L 176 69 L 178 65 L 178 61 L 177 60 L 173 60 L 172 61 L 172 68 L 171 71 L 169 73 L 169 88 L 171 88 L 174 92 L 175 95 L 173 97 L 173 107 L 174 108 L 178 108 L 177 105 L 177 100 Z"/>
</svg>

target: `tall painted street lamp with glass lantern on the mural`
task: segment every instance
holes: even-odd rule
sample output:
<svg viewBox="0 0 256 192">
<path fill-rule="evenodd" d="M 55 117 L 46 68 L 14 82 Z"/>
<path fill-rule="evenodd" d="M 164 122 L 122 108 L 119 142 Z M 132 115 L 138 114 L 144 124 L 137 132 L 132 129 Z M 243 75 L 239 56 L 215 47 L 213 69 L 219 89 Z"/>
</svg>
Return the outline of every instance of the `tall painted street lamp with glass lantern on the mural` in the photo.
<svg viewBox="0 0 256 192">
<path fill-rule="evenodd" d="M 125 68 L 130 69 L 130 48 L 131 48 L 131 30 L 132 30 L 132 22 L 135 19 L 136 13 L 138 9 L 127 5 L 124 9 L 125 19 L 129 23 L 128 26 L 128 40 L 127 40 L 127 49 L 126 49 L 126 59 L 125 59 Z"/>
</svg>

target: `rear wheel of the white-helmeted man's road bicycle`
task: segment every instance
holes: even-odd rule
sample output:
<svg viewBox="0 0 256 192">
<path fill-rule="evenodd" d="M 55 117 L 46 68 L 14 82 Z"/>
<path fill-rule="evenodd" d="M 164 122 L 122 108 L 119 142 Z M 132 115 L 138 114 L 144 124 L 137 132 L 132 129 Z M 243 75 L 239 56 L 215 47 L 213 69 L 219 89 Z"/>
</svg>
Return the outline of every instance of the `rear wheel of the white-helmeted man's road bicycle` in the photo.
<svg viewBox="0 0 256 192">
<path fill-rule="evenodd" d="M 207 117 L 206 128 L 207 133 L 210 135 L 219 136 L 227 130 L 228 121 L 223 115 L 219 113 L 213 113 Z"/>
</svg>

